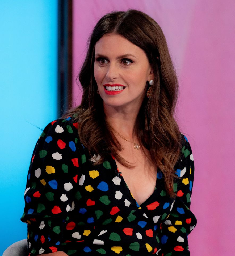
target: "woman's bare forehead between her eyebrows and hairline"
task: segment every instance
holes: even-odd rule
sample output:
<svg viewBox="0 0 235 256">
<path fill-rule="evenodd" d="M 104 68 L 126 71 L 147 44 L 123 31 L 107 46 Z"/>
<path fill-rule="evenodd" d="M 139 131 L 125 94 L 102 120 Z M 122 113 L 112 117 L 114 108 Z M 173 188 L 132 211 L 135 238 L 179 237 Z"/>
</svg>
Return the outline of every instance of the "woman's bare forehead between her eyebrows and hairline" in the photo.
<svg viewBox="0 0 235 256">
<path fill-rule="evenodd" d="M 95 44 L 95 54 L 133 54 L 138 56 L 145 55 L 137 45 L 118 34 L 105 34 Z"/>
</svg>

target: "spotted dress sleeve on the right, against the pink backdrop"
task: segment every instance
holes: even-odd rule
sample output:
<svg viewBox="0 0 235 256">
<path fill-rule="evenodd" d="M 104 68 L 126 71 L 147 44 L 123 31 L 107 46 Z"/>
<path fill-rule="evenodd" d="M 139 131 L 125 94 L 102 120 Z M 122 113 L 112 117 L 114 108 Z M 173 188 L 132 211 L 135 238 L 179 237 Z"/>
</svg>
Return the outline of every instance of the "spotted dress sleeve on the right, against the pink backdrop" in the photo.
<svg viewBox="0 0 235 256">
<path fill-rule="evenodd" d="M 174 183 L 177 197 L 173 208 L 161 225 L 161 255 L 188 256 L 188 234 L 194 229 L 197 221 L 190 211 L 192 186 L 194 180 L 194 159 L 187 138 L 183 136 L 181 159 L 176 174 L 179 179 Z"/>
</svg>

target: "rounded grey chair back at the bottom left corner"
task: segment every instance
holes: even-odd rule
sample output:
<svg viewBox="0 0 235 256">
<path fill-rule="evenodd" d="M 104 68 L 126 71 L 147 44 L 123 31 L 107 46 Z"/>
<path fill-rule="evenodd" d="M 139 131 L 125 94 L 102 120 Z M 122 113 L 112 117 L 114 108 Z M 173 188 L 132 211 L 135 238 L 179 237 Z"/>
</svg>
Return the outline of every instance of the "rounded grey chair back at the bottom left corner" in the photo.
<svg viewBox="0 0 235 256">
<path fill-rule="evenodd" d="M 2 256 L 27 256 L 28 245 L 27 239 L 20 240 L 10 245 L 2 254 Z"/>
</svg>

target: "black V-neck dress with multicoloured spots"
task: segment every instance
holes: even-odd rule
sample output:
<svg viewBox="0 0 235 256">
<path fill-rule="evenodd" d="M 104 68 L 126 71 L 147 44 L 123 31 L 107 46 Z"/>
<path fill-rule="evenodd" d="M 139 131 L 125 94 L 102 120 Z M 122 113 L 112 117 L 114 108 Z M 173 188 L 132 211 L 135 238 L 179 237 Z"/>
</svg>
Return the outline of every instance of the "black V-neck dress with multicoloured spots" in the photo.
<svg viewBox="0 0 235 256">
<path fill-rule="evenodd" d="M 196 218 L 189 209 L 194 162 L 187 138 L 175 166 L 176 199 L 167 196 L 158 170 L 153 194 L 138 205 L 111 154 L 93 165 L 100 156 L 89 155 L 77 127 L 73 117 L 53 121 L 35 146 L 21 218 L 30 255 L 190 255 L 187 235 Z"/>
</svg>

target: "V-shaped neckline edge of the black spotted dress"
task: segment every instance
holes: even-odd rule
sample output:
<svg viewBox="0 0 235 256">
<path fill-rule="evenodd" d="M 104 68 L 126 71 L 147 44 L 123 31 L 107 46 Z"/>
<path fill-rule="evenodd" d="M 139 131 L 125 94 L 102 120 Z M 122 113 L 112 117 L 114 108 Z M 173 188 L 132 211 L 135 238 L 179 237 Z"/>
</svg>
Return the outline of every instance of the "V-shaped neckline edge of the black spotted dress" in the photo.
<svg viewBox="0 0 235 256">
<path fill-rule="evenodd" d="M 133 197 L 133 194 L 131 193 L 131 190 L 129 189 L 127 183 L 125 182 L 125 179 L 123 178 L 123 175 L 121 174 L 121 171 L 118 169 L 117 167 L 117 163 L 116 163 L 116 160 L 114 158 L 114 156 L 111 154 L 111 158 L 112 158 L 112 161 L 114 163 L 114 167 L 115 167 L 115 171 L 116 171 L 116 174 L 118 176 L 120 176 L 120 179 L 121 179 L 121 183 L 123 184 L 123 187 L 125 187 L 125 189 L 128 190 L 128 193 L 130 194 L 130 197 L 132 198 L 132 201 L 133 203 L 136 204 L 137 208 L 138 209 L 142 209 L 144 206 L 148 205 L 148 202 L 150 201 L 150 199 L 155 195 L 156 191 L 158 190 L 158 187 L 159 187 L 159 184 L 160 182 L 158 182 L 158 178 L 157 178 L 157 174 L 156 174 L 156 183 L 155 183 L 155 189 L 153 191 L 153 193 L 144 201 L 142 202 L 140 205 L 139 203 L 136 201 L 136 199 Z M 157 173 L 158 173 L 159 169 L 157 168 Z"/>
</svg>

